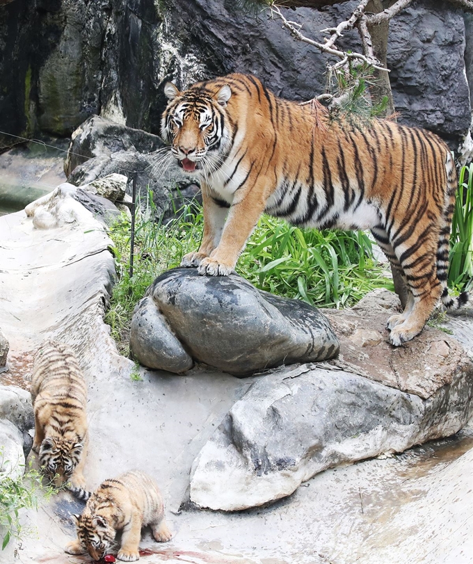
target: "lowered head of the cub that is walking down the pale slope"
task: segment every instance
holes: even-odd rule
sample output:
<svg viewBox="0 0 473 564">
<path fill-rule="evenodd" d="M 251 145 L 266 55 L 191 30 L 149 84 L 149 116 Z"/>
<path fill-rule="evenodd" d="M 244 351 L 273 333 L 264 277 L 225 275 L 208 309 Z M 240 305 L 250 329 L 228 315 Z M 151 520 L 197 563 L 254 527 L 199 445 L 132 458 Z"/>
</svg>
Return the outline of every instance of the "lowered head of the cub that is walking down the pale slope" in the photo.
<svg viewBox="0 0 473 564">
<path fill-rule="evenodd" d="M 40 446 L 40 465 L 56 488 L 72 476 L 81 460 L 83 444 L 63 437 L 46 437 Z"/>
</svg>

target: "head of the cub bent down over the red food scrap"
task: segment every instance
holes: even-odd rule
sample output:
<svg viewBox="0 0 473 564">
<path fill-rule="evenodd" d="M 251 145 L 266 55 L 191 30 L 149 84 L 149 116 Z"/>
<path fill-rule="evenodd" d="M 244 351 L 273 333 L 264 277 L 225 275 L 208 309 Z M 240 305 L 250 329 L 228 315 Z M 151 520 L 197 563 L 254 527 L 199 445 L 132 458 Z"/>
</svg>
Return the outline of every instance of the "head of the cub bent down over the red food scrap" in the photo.
<svg viewBox="0 0 473 564">
<path fill-rule="evenodd" d="M 115 529 L 104 515 L 74 515 L 77 537 L 93 560 L 100 560 L 115 548 Z"/>
</svg>

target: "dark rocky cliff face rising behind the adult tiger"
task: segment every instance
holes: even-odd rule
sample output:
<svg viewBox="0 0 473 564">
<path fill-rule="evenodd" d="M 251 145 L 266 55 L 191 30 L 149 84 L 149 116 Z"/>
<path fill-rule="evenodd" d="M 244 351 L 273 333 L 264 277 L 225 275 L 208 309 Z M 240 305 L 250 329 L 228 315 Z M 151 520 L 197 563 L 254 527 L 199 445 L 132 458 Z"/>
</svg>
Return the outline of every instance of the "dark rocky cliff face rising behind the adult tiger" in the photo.
<svg viewBox="0 0 473 564">
<path fill-rule="evenodd" d="M 308 36 L 355 6 L 299 8 Z M 69 136 L 88 116 L 159 133 L 163 83 L 178 86 L 228 72 L 252 72 L 275 93 L 309 99 L 325 87 L 326 56 L 297 42 L 266 13 L 232 0 L 15 0 L 0 9 L 0 129 Z M 432 129 L 456 148 L 472 118 L 467 17 L 423 0 L 392 20 L 388 66 L 399 120 Z M 358 33 L 345 46 L 358 49 Z M 466 61 L 466 63 L 465 63 Z M 471 83 L 471 81 L 470 81 Z M 10 145 L 11 138 L 0 138 Z"/>
</svg>

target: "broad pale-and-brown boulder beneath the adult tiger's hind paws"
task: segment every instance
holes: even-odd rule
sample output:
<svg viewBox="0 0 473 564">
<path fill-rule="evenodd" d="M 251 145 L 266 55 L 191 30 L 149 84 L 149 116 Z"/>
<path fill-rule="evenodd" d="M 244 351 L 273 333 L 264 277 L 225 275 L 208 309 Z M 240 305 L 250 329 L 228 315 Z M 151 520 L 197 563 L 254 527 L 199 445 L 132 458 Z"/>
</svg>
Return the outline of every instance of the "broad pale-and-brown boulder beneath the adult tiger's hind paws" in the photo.
<svg viewBox="0 0 473 564">
<path fill-rule="evenodd" d="M 399 453 L 465 426 L 473 414 L 472 360 L 433 328 L 403 348 L 387 344 L 391 296 L 378 291 L 330 316 L 339 358 L 255 381 L 195 459 L 193 503 L 260 506 L 327 468 Z"/>
</svg>

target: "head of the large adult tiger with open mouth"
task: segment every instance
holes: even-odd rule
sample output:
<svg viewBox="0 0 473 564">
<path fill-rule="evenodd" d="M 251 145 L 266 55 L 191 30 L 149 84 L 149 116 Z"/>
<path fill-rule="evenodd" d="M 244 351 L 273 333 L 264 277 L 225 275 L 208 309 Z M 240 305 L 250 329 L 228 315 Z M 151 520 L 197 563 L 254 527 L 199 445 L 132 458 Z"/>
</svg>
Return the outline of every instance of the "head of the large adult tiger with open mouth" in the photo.
<svg viewBox="0 0 473 564">
<path fill-rule="evenodd" d="M 168 82 L 164 87 L 168 106 L 161 120 L 161 136 L 170 143 L 173 156 L 186 172 L 211 172 L 221 164 L 230 146 L 225 108 L 232 96 L 227 84 L 213 91 L 205 83 L 179 92 Z"/>
</svg>

